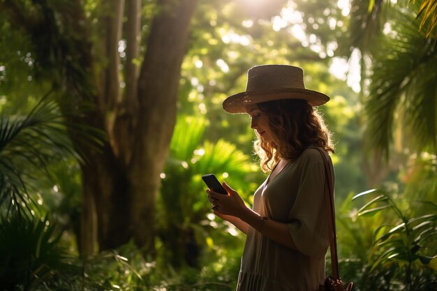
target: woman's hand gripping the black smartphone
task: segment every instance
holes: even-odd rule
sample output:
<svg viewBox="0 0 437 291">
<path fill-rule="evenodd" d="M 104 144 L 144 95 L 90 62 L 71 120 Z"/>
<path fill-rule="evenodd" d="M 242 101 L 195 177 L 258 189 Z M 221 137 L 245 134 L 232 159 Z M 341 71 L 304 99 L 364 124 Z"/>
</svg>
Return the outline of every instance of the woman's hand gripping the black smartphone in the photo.
<svg viewBox="0 0 437 291">
<path fill-rule="evenodd" d="M 247 208 L 246 204 L 244 204 L 242 197 L 238 195 L 237 191 L 230 188 L 230 186 L 225 182 L 223 182 L 222 185 L 226 192 L 228 192 L 228 195 L 216 193 L 209 189 L 207 190 L 209 200 L 214 201 L 214 214 L 218 212 L 219 214 L 239 217 L 242 214 L 242 211 Z M 216 215 L 219 216 L 218 214 Z"/>
</svg>

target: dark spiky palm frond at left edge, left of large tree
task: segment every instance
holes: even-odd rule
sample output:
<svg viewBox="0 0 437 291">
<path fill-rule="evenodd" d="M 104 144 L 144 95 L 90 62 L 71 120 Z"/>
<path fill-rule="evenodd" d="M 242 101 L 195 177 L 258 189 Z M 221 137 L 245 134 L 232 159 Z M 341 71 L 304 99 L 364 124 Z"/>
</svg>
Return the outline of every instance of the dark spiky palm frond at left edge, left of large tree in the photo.
<svg viewBox="0 0 437 291">
<path fill-rule="evenodd" d="M 0 117 L 0 207 L 36 206 L 28 195 L 35 177 L 49 177 L 47 165 L 64 156 L 76 156 L 66 134 L 66 122 L 54 100 L 45 96 L 25 117 Z M 36 169 L 36 170 L 35 170 Z"/>
</svg>

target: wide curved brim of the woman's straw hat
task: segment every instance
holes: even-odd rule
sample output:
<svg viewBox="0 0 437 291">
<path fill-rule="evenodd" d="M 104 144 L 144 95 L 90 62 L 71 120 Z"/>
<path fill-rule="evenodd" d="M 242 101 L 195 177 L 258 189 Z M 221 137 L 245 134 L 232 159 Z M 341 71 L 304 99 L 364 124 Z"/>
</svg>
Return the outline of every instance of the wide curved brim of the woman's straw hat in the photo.
<svg viewBox="0 0 437 291">
<path fill-rule="evenodd" d="M 246 113 L 248 105 L 283 99 L 302 99 L 308 101 L 311 106 L 320 106 L 329 101 L 325 94 L 308 89 L 249 91 L 226 98 L 223 101 L 223 110 L 229 113 Z"/>
</svg>

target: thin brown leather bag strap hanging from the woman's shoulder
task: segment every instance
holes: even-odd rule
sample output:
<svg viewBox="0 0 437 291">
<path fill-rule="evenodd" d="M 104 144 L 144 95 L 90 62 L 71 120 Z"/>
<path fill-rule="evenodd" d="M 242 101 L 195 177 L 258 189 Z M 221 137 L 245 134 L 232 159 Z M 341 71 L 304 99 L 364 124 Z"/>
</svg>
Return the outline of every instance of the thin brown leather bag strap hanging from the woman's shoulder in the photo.
<svg viewBox="0 0 437 291">
<path fill-rule="evenodd" d="M 325 151 L 314 147 L 317 149 L 323 158 L 323 163 L 325 163 L 325 174 L 327 180 L 327 187 L 325 187 L 325 198 L 326 198 L 326 210 L 328 216 L 328 230 L 329 230 L 329 250 L 331 251 L 331 265 L 332 265 L 332 278 L 339 279 L 339 258 L 337 257 L 337 239 L 336 239 L 336 229 L 335 229 L 335 208 L 334 208 L 334 180 L 332 179 L 331 167 L 325 156 Z"/>
</svg>

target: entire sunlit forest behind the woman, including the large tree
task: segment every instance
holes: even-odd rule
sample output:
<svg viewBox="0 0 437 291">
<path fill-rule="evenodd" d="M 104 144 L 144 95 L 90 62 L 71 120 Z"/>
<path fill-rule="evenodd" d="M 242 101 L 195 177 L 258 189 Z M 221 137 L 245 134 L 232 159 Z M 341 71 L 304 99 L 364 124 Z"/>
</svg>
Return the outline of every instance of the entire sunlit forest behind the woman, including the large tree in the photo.
<svg viewBox="0 0 437 291">
<path fill-rule="evenodd" d="M 436 1 L 0 0 L 1 290 L 234 290 L 201 175 L 266 178 L 223 100 L 304 69 L 332 130 L 341 276 L 437 288 Z M 327 273 L 329 273 L 327 263 Z"/>
</svg>

